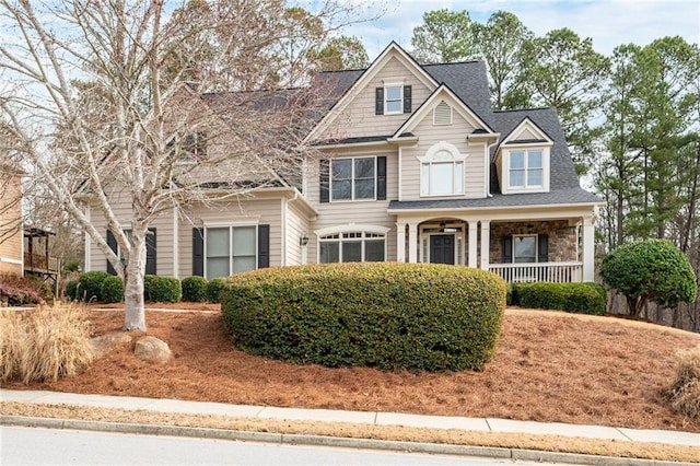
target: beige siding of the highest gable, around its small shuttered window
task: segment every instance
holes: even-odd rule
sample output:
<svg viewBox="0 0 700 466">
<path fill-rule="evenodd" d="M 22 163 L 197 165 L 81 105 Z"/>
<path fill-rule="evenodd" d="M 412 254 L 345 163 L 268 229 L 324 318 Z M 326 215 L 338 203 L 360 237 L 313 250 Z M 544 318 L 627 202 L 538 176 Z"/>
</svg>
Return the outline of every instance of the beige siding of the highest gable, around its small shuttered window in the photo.
<svg viewBox="0 0 700 466">
<path fill-rule="evenodd" d="M 334 124 L 318 137 L 319 140 L 353 138 L 362 136 L 393 135 L 410 114 L 375 115 L 375 89 L 384 82 L 411 86 L 411 107 L 416 112 L 432 92 L 399 60 L 392 58 L 368 85 L 359 90 L 358 96 L 345 108 Z"/>
</svg>

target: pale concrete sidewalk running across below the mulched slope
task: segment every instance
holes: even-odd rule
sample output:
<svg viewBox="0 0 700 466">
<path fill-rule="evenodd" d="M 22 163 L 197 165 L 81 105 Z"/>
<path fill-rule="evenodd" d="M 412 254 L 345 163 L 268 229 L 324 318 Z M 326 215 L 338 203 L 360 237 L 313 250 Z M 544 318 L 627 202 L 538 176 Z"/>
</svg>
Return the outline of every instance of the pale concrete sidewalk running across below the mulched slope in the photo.
<svg viewBox="0 0 700 466">
<path fill-rule="evenodd" d="M 364 412 L 330 409 L 277 408 L 270 406 L 228 405 L 222 403 L 176 399 L 137 398 L 128 396 L 82 395 L 59 392 L 10 391 L 0 388 L 0 400 L 65 404 L 89 407 L 141 409 L 190 415 L 223 415 L 238 418 L 287 419 L 322 422 L 350 422 L 374 426 L 405 426 L 430 429 L 459 429 L 482 432 L 562 435 L 620 442 L 657 442 L 669 445 L 697 446 L 700 459 L 700 434 L 679 431 L 623 429 L 556 422 L 514 421 L 492 418 L 422 416 L 400 412 Z"/>
</svg>

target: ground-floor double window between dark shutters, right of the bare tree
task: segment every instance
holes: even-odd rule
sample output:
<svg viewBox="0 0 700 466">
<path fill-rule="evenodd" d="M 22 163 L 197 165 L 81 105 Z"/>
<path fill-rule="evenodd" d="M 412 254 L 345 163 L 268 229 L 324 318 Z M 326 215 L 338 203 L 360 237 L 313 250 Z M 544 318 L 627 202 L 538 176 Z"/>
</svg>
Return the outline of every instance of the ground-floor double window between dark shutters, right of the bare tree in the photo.
<svg viewBox="0 0 700 466">
<path fill-rule="evenodd" d="M 256 226 L 207 228 L 206 277 L 229 277 L 257 267 Z"/>
</svg>

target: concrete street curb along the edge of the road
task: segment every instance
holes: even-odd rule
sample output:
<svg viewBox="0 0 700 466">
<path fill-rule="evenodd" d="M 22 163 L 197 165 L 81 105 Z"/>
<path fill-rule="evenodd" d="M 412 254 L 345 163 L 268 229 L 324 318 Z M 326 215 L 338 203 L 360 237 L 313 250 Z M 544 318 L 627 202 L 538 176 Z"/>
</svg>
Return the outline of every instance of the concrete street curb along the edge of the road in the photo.
<svg viewBox="0 0 700 466">
<path fill-rule="evenodd" d="M 249 432 L 226 429 L 192 428 L 163 424 L 84 421 L 75 419 L 0 416 L 0 426 L 48 429 L 75 429 L 100 432 L 136 433 L 148 435 L 188 436 L 198 439 L 234 440 L 280 443 L 289 445 L 336 446 L 346 448 L 385 450 L 394 452 L 428 453 L 456 456 L 480 456 L 498 459 L 539 463 L 568 463 L 599 466 L 693 466 L 697 463 L 661 462 L 655 459 L 621 458 L 615 456 L 580 455 L 537 450 L 499 448 L 492 446 L 448 445 L 439 443 L 400 442 L 390 440 L 351 439 L 325 435 Z"/>
</svg>

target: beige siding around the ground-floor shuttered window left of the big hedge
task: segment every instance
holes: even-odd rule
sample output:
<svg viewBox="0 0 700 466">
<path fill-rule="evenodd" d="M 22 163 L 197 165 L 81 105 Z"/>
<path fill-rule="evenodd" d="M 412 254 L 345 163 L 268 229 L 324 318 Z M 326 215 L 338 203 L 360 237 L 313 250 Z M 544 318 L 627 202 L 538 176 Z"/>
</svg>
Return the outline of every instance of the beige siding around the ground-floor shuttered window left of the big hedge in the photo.
<svg viewBox="0 0 700 466">
<path fill-rule="evenodd" d="M 270 267 L 280 266 L 282 257 L 280 198 L 242 199 L 219 202 L 215 207 L 200 206 L 186 209 L 178 224 L 179 278 L 192 275 L 192 228 L 231 224 L 270 225 Z"/>
</svg>

